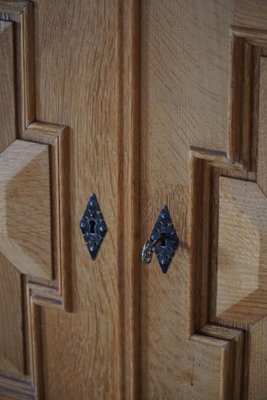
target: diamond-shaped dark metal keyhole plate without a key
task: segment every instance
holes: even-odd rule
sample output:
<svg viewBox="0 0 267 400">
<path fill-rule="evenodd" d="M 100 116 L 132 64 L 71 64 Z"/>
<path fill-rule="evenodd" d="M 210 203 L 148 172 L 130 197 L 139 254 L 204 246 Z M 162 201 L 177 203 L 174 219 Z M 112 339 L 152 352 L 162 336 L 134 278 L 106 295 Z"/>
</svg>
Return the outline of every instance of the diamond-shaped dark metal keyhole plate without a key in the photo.
<svg viewBox="0 0 267 400">
<path fill-rule="evenodd" d="M 95 260 L 107 233 L 107 226 L 94 193 L 89 197 L 80 221 L 80 228 L 89 254 L 92 260 Z"/>
</svg>

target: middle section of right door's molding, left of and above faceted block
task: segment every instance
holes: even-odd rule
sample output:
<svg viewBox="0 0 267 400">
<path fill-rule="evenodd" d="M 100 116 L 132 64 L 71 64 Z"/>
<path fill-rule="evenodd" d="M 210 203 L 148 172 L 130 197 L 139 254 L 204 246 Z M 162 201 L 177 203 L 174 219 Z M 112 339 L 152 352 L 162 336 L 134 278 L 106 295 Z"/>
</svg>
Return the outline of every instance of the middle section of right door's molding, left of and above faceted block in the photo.
<svg viewBox="0 0 267 400">
<path fill-rule="evenodd" d="M 231 176 L 255 180 L 255 174 L 230 163 L 226 155 L 191 148 L 191 213 L 189 243 L 190 335 L 198 332 L 211 319 L 216 288 L 216 254 L 218 242 L 219 177 Z"/>
</svg>

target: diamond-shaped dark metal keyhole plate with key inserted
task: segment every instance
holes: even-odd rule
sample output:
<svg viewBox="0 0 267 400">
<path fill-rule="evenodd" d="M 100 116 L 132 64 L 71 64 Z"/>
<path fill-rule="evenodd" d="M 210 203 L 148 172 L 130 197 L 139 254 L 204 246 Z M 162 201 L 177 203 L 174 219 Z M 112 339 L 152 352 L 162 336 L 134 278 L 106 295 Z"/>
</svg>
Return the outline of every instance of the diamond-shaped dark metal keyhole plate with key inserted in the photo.
<svg viewBox="0 0 267 400">
<path fill-rule="evenodd" d="M 166 273 L 178 247 L 179 238 L 174 229 L 168 207 L 164 205 L 151 232 L 150 239 L 144 244 L 142 260 L 150 263 L 155 253 L 162 272 Z"/>
</svg>

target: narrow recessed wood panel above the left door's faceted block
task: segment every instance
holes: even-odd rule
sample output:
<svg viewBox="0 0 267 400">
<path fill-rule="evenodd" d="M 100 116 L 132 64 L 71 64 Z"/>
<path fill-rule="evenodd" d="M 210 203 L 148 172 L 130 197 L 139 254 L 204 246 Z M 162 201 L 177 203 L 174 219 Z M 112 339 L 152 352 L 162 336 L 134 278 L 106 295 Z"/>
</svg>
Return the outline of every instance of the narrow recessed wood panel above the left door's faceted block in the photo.
<svg viewBox="0 0 267 400">
<path fill-rule="evenodd" d="M 13 25 L 0 20 L 0 150 L 16 138 L 13 46 Z"/>
</svg>

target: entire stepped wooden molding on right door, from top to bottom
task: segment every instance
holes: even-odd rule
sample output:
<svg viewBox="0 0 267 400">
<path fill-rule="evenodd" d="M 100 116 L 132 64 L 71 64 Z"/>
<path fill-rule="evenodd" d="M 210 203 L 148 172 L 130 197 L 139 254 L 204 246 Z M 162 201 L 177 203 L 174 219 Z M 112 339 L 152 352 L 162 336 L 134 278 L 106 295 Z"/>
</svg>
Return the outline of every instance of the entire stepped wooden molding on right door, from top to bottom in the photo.
<svg viewBox="0 0 267 400">
<path fill-rule="evenodd" d="M 236 186 L 242 187 L 239 182 L 245 184 L 248 181 L 251 182 L 250 191 L 256 191 L 253 185 L 259 185 L 267 194 L 264 182 L 266 150 L 260 147 L 266 143 L 261 126 L 264 123 L 263 113 L 266 113 L 266 107 L 262 107 L 266 100 L 261 95 L 261 64 L 266 63 L 266 46 L 267 32 L 231 28 L 228 152 L 225 154 L 194 147 L 190 149 L 189 335 L 191 340 L 198 338 L 199 334 L 230 339 L 229 333 L 234 328 L 235 333 L 232 332 L 230 339 L 230 344 L 235 346 L 232 353 L 234 360 L 226 361 L 231 369 L 227 383 L 230 388 L 228 395 L 233 399 L 246 398 L 248 393 L 247 381 L 250 375 L 244 360 L 249 357 L 250 349 L 245 332 L 250 330 L 250 324 L 237 318 L 237 313 L 229 313 L 229 318 L 226 318 L 227 313 L 220 316 L 217 312 L 219 200 L 222 196 L 220 181 L 222 184 L 226 177 L 233 178 L 230 179 L 231 184 L 235 185 L 236 182 Z M 244 190 L 242 193 L 244 195 Z M 241 212 L 245 213 L 245 208 Z M 253 310 L 252 313 L 255 312 Z M 262 318 L 265 316 L 267 312 L 261 315 Z"/>
</svg>

